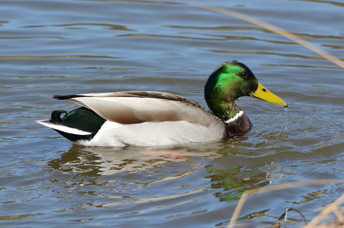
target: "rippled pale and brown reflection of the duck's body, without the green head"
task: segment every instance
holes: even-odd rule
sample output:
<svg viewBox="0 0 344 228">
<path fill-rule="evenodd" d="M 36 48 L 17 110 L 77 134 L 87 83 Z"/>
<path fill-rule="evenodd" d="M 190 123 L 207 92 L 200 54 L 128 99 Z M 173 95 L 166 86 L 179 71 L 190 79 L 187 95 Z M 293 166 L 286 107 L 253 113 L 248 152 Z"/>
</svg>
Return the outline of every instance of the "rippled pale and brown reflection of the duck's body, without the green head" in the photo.
<svg viewBox="0 0 344 228">
<path fill-rule="evenodd" d="M 49 162 L 48 166 L 62 172 L 78 172 L 87 175 L 111 175 L 116 173 L 135 173 L 152 171 L 162 164 L 186 162 L 192 167 L 204 166 L 200 159 L 222 157 L 219 152 L 222 144 L 187 144 L 176 146 L 123 148 L 82 147 L 73 145 L 61 158 Z M 191 170 L 190 170 L 191 171 Z"/>
</svg>

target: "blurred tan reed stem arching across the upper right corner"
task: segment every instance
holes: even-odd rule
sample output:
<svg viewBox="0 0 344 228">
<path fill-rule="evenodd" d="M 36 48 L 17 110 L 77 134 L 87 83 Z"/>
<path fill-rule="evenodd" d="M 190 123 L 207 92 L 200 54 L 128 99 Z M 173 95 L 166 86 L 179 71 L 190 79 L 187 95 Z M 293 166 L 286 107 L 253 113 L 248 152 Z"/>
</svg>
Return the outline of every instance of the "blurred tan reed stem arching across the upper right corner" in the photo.
<svg viewBox="0 0 344 228">
<path fill-rule="evenodd" d="M 313 52 L 317 53 L 318 55 L 324 57 L 325 59 L 327 60 L 330 60 L 332 61 L 334 64 L 340 66 L 341 68 L 344 69 L 344 61 L 340 58 L 337 58 L 335 57 L 334 55 L 326 52 L 325 50 L 309 43 L 308 41 L 298 37 L 298 36 L 295 36 L 294 34 L 290 33 L 290 32 L 287 32 L 283 29 L 281 29 L 280 27 L 277 27 L 273 24 L 270 24 L 268 22 L 265 22 L 265 21 L 262 21 L 262 20 L 259 20 L 259 19 L 256 19 L 256 18 L 253 18 L 251 16 L 248 16 L 248 15 L 245 15 L 243 13 L 238 13 L 236 11 L 233 11 L 233 10 L 229 10 L 229 9 L 224 9 L 224 8 L 221 8 L 221 7 L 215 7 L 215 6 L 211 6 L 211 5 L 206 5 L 206 4 L 202 4 L 202 3 L 199 3 L 199 2 L 196 2 L 196 1 L 191 1 L 190 2 L 191 5 L 195 6 L 195 7 L 198 7 L 198 8 L 202 8 L 202 9 L 206 9 L 206 10 L 210 10 L 210 11 L 214 11 L 214 12 L 217 12 L 217 13 L 222 13 L 222 14 L 225 14 L 225 15 L 229 15 L 229 16 L 233 16 L 235 18 L 238 18 L 238 19 L 241 19 L 241 20 L 244 20 L 244 21 L 247 21 L 249 23 L 252 23 L 252 24 L 256 24 L 258 26 L 261 26 L 261 27 L 264 27 L 265 29 L 268 29 L 270 30 L 271 32 L 274 32 L 274 33 L 277 33 L 281 36 L 284 36 L 292 41 L 294 41 L 295 43 L 298 43 L 310 50 L 312 50 Z"/>
</svg>

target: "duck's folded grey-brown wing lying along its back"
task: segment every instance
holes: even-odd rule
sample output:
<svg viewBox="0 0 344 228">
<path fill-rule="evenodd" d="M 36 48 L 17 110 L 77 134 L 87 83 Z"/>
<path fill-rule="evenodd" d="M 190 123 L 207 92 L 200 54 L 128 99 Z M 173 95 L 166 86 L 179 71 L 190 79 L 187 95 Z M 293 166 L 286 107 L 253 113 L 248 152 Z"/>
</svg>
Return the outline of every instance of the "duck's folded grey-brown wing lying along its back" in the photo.
<svg viewBox="0 0 344 228">
<path fill-rule="evenodd" d="M 209 126 L 219 121 L 197 102 L 171 93 L 128 91 L 53 98 L 83 105 L 108 121 L 121 124 L 185 120 Z"/>
</svg>

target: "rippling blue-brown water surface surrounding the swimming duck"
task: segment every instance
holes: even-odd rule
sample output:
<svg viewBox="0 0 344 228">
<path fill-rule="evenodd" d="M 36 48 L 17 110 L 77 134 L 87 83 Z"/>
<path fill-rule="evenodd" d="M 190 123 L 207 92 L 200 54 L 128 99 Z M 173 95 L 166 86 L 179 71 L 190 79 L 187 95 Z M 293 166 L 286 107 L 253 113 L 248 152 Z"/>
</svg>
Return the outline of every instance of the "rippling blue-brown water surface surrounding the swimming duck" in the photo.
<svg viewBox="0 0 344 228">
<path fill-rule="evenodd" d="M 344 58 L 341 1 L 211 4 Z M 338 179 L 250 195 L 237 226 L 253 227 L 290 207 L 310 220 L 342 195 L 344 71 L 310 50 L 187 1 L 8 0 L 0 12 L 3 227 L 227 227 L 245 190 Z M 205 81 L 227 60 L 248 65 L 287 114 L 244 97 L 246 135 L 150 148 L 76 146 L 35 123 L 77 107 L 55 94 L 165 91 L 206 105 Z"/>
</svg>

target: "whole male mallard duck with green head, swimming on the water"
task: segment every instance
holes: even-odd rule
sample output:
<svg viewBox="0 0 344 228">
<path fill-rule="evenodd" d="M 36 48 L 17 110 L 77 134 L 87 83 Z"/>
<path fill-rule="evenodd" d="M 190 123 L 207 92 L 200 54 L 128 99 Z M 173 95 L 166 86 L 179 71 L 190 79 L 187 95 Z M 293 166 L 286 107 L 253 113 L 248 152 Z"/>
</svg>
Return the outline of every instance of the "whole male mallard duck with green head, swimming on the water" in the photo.
<svg viewBox="0 0 344 228">
<path fill-rule="evenodd" d="M 164 92 L 54 95 L 54 99 L 82 107 L 69 113 L 54 111 L 51 119 L 37 123 L 84 146 L 155 146 L 216 142 L 230 134 L 245 134 L 252 124 L 234 103 L 240 96 L 287 107 L 286 102 L 257 81 L 246 65 L 236 60 L 216 67 L 205 84 L 204 96 L 212 112 L 193 100 Z"/>
</svg>

